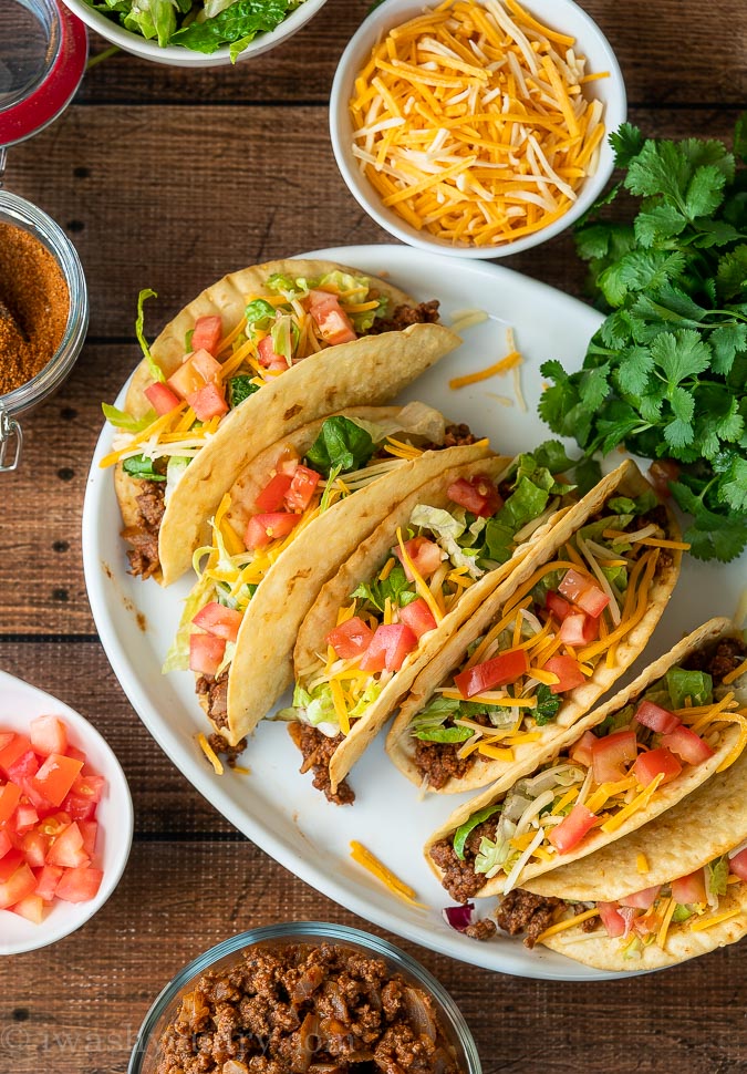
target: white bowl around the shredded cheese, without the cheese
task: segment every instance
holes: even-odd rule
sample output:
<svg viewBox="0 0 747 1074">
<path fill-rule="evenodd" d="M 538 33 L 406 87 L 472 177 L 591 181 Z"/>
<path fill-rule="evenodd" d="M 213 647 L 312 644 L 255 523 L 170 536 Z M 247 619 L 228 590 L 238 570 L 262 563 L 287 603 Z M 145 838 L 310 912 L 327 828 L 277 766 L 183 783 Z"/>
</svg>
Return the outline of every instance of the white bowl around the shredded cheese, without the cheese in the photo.
<svg viewBox="0 0 747 1074">
<path fill-rule="evenodd" d="M 528 12 L 546 25 L 575 38 L 574 50 L 588 59 L 588 71 L 609 71 L 609 79 L 592 83 L 594 96 L 604 104 L 603 122 L 606 131 L 615 131 L 626 116 L 625 84 L 622 72 L 609 41 L 587 12 L 573 0 L 527 0 Z M 614 156 L 604 138 L 599 166 L 593 176 L 585 179 L 577 200 L 569 210 L 533 235 L 496 246 L 454 246 L 429 231 L 418 231 L 393 209 L 382 205 L 381 196 L 361 172 L 353 156 L 353 124 L 347 107 L 353 95 L 355 76 L 367 62 L 371 51 L 381 37 L 392 27 L 421 14 L 426 8 L 435 8 L 436 0 L 385 0 L 363 22 L 342 54 L 332 83 L 330 97 L 330 133 L 338 167 L 353 197 L 385 230 L 409 246 L 457 257 L 492 258 L 519 254 L 553 238 L 578 220 L 604 189 L 612 175 Z"/>
</svg>

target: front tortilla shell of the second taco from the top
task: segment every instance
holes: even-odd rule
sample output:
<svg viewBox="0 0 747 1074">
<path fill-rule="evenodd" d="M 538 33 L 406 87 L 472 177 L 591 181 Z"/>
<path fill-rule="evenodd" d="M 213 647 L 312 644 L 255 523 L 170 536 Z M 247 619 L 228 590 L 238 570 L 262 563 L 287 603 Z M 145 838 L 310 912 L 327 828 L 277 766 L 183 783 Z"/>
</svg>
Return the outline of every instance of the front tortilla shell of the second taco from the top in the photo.
<svg viewBox="0 0 747 1074">
<path fill-rule="evenodd" d="M 350 412 L 349 412 L 350 413 Z M 241 621 L 228 679 L 228 739 L 258 722 L 293 680 L 292 652 L 321 587 L 403 496 L 444 472 L 492 463 L 487 441 L 425 452 L 340 500 L 299 534 L 262 579 Z M 505 467 L 508 459 L 502 459 Z M 443 478 L 442 478 L 443 479 Z M 333 623 L 334 626 L 334 623 Z"/>
</svg>

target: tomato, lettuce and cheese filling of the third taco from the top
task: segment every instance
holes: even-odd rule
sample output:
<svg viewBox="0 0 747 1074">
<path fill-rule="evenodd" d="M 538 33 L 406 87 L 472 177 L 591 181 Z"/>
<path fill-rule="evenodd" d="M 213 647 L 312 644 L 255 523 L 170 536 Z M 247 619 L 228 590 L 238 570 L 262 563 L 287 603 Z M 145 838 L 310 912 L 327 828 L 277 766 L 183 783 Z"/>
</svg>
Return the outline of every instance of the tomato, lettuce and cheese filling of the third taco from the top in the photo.
<svg viewBox="0 0 747 1074">
<path fill-rule="evenodd" d="M 282 717 L 349 734 L 464 591 L 575 498 L 575 486 L 548 468 L 560 457 L 557 447 L 519 456 L 498 483 L 479 474 L 455 481 L 447 507 L 416 505 L 376 575 L 339 610 L 326 653 L 297 681 L 293 708 Z"/>
</svg>

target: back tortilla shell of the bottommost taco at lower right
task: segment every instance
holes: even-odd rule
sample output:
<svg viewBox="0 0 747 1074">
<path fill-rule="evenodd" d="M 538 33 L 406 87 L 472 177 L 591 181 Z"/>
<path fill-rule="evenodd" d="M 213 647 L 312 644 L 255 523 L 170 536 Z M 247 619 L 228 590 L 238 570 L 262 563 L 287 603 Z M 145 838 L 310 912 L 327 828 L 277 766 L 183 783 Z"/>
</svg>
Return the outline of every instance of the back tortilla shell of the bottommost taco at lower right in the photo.
<svg viewBox="0 0 747 1074">
<path fill-rule="evenodd" d="M 672 809 L 595 854 L 522 887 L 579 902 L 614 902 L 689 876 L 747 839 L 747 751 Z M 639 871 L 640 856 L 649 864 Z"/>
</svg>

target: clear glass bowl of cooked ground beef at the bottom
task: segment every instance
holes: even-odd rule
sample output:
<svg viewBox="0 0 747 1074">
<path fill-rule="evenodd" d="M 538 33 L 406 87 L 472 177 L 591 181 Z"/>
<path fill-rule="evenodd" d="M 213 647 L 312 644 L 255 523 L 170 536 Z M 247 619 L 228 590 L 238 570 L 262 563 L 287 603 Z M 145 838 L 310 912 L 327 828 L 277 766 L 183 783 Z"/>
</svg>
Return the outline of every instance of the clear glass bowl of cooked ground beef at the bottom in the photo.
<svg viewBox="0 0 747 1074">
<path fill-rule="evenodd" d="M 252 929 L 151 1008 L 128 1074 L 481 1074 L 438 981 L 386 940 L 307 921 Z"/>
</svg>

